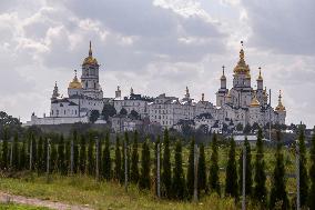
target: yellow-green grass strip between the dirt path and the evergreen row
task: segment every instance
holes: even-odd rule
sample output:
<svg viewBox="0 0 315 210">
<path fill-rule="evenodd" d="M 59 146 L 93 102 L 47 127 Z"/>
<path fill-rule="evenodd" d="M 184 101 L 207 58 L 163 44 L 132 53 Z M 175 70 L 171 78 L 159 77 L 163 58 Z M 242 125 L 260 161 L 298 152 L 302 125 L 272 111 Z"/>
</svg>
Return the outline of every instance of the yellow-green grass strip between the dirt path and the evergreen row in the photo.
<svg viewBox="0 0 315 210">
<path fill-rule="evenodd" d="M 152 191 L 139 191 L 135 186 L 124 188 L 113 182 L 96 182 L 88 177 L 53 176 L 45 183 L 44 177 L 28 176 L 22 179 L 1 178 L 0 190 L 26 197 L 89 206 L 95 209 L 236 209 L 232 199 L 209 196 L 199 203 L 158 200 Z"/>
</svg>

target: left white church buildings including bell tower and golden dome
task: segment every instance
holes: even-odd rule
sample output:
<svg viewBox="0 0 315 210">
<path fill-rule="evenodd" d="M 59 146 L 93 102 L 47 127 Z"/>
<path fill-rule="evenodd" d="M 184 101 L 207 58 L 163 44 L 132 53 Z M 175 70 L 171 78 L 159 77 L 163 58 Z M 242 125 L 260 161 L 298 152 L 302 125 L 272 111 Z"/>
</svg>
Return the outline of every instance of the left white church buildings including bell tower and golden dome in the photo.
<svg viewBox="0 0 315 210">
<path fill-rule="evenodd" d="M 89 122 L 92 110 L 102 112 L 105 99 L 99 83 L 100 64 L 93 57 L 91 41 L 88 57 L 84 58 L 81 67 L 80 80 L 74 70 L 74 77 L 69 82 L 68 97 L 59 93 L 55 82 L 51 96 L 50 114 L 43 118 L 32 114 L 31 121 L 27 122 L 28 126 Z"/>
</svg>

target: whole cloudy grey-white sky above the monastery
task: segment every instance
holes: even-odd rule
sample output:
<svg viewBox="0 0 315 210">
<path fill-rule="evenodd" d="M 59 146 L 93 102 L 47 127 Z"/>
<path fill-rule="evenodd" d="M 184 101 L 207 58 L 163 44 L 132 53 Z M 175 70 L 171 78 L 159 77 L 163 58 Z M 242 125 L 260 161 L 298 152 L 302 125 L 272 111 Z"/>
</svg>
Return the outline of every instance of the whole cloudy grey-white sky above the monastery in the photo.
<svg viewBox="0 0 315 210">
<path fill-rule="evenodd" d="M 256 84 L 278 90 L 287 123 L 315 124 L 314 0 L 0 1 L 0 110 L 22 121 L 49 113 L 54 81 L 67 94 L 92 41 L 104 97 L 136 93 L 215 103 L 222 66 L 231 88 L 240 41 Z"/>
</svg>

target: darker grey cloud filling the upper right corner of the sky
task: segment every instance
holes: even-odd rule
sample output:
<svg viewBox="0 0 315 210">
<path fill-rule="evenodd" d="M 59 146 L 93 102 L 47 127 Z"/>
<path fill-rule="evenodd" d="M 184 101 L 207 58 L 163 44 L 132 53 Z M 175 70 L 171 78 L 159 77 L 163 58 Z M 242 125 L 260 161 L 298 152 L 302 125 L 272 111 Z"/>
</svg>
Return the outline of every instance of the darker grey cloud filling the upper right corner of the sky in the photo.
<svg viewBox="0 0 315 210">
<path fill-rule="evenodd" d="M 243 0 L 253 34 L 250 42 L 280 53 L 315 53 L 314 0 Z"/>
</svg>

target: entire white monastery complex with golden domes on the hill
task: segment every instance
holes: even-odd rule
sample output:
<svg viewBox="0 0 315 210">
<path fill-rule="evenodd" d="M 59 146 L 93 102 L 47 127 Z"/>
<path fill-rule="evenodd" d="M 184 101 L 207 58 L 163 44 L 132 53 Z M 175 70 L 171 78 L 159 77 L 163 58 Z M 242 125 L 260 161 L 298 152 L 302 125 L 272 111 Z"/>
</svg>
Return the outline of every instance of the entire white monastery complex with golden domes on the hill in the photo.
<svg viewBox="0 0 315 210">
<path fill-rule="evenodd" d="M 256 79 L 255 88 L 252 87 L 252 76 L 248 64 L 245 62 L 243 48 L 240 51 L 240 59 L 233 70 L 233 87 L 226 86 L 225 67 L 221 77 L 221 87 L 216 92 L 216 104 L 204 99 L 204 93 L 199 101 L 190 96 L 186 87 L 184 97 L 176 97 L 161 93 L 159 97 L 150 98 L 134 93 L 131 88 L 130 96 L 122 97 L 120 87 L 115 91 L 114 98 L 103 98 L 103 90 L 99 82 L 100 64 L 93 57 L 92 47 L 88 57 L 82 62 L 82 73 L 78 78 L 77 70 L 68 87 L 68 97 L 60 94 L 57 83 L 51 96 L 51 108 L 49 116 L 38 118 L 34 113 L 31 121 L 26 126 L 32 124 L 63 124 L 63 123 L 88 123 L 93 111 L 102 112 L 105 103 L 112 104 L 116 113 L 122 109 L 126 111 L 124 118 L 118 114 L 120 127 L 119 131 L 132 130 L 133 128 L 122 128 L 126 124 L 134 124 L 132 119 L 128 119 L 132 111 L 139 114 L 136 123 L 149 121 L 149 123 L 160 124 L 163 129 L 181 129 L 183 123 L 189 123 L 195 129 L 207 128 L 209 131 L 222 132 L 223 128 L 228 127 L 234 130 L 237 124 L 261 127 L 268 122 L 273 124 L 285 124 L 286 109 L 282 102 L 280 91 L 277 106 L 271 106 L 271 97 L 264 88 L 262 69 Z M 112 118 L 114 121 L 115 117 Z M 101 118 L 95 123 L 106 123 Z M 118 129 L 113 130 L 118 131 Z"/>
</svg>

